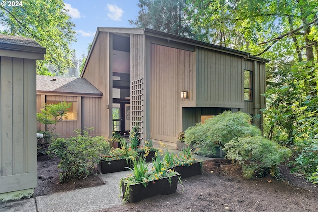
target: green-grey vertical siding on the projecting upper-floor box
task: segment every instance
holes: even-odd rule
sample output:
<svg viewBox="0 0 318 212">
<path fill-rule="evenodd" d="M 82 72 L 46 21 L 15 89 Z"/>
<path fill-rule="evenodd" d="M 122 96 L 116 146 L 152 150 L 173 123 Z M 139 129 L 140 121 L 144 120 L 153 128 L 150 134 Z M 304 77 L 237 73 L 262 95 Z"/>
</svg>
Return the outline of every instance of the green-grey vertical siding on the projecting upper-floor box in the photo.
<svg viewBox="0 0 318 212">
<path fill-rule="evenodd" d="M 243 59 L 238 56 L 198 48 L 197 106 L 241 108 Z"/>
</svg>

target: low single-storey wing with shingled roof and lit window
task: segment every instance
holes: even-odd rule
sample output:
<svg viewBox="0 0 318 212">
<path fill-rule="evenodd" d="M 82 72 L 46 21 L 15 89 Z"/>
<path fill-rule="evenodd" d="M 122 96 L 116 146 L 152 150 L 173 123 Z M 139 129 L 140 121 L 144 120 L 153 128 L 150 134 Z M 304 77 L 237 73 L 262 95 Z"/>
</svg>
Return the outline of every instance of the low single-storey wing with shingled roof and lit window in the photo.
<svg viewBox="0 0 318 212">
<path fill-rule="evenodd" d="M 67 115 L 56 124 L 54 130 L 60 137 L 76 136 L 74 130 L 93 127 L 91 136 L 101 134 L 102 93 L 82 78 L 57 76 L 36 76 L 36 112 L 45 104 L 66 102 L 71 104 Z M 45 131 L 45 125 L 37 123 L 38 131 Z"/>
</svg>

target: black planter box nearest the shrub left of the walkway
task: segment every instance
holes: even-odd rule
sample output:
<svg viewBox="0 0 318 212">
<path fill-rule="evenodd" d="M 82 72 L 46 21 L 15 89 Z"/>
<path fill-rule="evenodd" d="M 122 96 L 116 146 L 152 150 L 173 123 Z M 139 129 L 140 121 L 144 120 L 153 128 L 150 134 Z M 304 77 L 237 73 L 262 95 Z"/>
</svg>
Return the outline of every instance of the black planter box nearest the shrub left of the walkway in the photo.
<svg viewBox="0 0 318 212">
<path fill-rule="evenodd" d="M 129 170 L 127 167 L 131 167 L 130 161 L 126 159 L 100 161 L 97 164 L 98 171 L 102 174 L 120 172 Z"/>
</svg>

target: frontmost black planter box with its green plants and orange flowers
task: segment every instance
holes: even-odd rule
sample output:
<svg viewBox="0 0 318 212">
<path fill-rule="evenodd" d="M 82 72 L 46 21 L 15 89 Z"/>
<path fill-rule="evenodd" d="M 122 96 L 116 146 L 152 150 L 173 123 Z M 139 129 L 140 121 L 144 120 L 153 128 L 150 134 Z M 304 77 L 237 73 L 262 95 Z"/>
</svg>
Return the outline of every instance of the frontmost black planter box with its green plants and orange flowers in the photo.
<svg viewBox="0 0 318 212">
<path fill-rule="evenodd" d="M 145 158 L 133 161 L 133 167 L 129 168 L 132 174 L 120 180 L 120 189 L 124 201 L 138 202 L 144 198 L 157 194 L 171 194 L 176 192 L 179 174 L 173 170 L 167 170 L 165 163 L 160 160 L 160 155 L 152 159 L 152 168 L 148 169 Z"/>
</svg>

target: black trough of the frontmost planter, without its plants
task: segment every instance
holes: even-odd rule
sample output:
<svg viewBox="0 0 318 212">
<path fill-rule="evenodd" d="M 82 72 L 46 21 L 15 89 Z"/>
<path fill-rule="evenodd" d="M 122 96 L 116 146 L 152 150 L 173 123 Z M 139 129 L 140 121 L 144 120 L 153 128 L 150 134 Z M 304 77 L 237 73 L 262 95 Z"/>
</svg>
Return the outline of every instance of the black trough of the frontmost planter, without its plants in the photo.
<svg viewBox="0 0 318 212">
<path fill-rule="evenodd" d="M 170 180 L 168 177 L 166 177 L 159 180 L 150 181 L 148 182 L 148 185 L 146 187 L 144 187 L 142 183 L 130 185 L 128 187 L 127 193 L 127 184 L 124 183 L 123 179 L 121 179 L 121 181 L 121 189 L 124 199 L 126 199 L 130 203 L 135 203 L 158 194 L 168 195 L 176 192 L 178 187 L 179 175 L 172 176 Z"/>
</svg>

